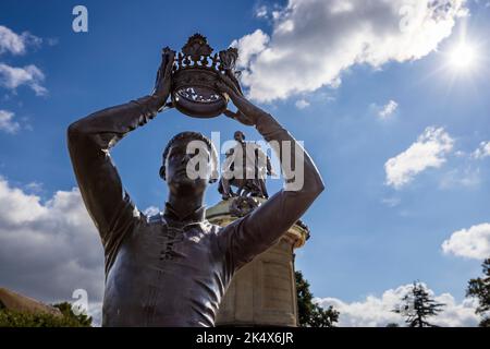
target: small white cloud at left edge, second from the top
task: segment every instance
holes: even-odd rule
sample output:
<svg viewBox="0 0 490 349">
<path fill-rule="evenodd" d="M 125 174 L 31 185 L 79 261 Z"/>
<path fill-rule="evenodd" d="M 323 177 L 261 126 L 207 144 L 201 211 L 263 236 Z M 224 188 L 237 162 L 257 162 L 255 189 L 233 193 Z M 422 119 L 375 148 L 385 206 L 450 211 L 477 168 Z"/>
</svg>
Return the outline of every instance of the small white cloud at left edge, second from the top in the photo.
<svg viewBox="0 0 490 349">
<path fill-rule="evenodd" d="M 10 67 L 0 63 L 0 86 L 15 91 L 21 85 L 29 86 L 37 96 L 48 93 L 41 85 L 45 74 L 34 64 L 24 68 Z"/>
</svg>

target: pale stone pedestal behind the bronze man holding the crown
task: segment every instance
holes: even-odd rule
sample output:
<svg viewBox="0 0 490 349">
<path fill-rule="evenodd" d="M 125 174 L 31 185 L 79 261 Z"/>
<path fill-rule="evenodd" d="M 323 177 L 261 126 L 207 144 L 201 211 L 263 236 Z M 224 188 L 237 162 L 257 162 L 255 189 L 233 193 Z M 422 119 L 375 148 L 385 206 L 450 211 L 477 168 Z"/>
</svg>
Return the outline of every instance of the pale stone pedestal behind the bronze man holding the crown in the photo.
<svg viewBox="0 0 490 349">
<path fill-rule="evenodd" d="M 207 219 L 226 226 L 246 213 L 244 200 L 233 198 L 210 207 Z M 245 200 L 252 204 L 252 198 Z M 256 205 L 266 200 L 253 198 Z M 241 205 L 242 204 L 242 205 Z M 241 207 L 243 208 L 243 207 Z M 253 209 L 253 207 L 248 207 Z M 297 326 L 294 249 L 308 238 L 306 226 L 294 225 L 279 242 L 242 267 L 234 276 L 217 317 L 217 326 Z"/>
</svg>

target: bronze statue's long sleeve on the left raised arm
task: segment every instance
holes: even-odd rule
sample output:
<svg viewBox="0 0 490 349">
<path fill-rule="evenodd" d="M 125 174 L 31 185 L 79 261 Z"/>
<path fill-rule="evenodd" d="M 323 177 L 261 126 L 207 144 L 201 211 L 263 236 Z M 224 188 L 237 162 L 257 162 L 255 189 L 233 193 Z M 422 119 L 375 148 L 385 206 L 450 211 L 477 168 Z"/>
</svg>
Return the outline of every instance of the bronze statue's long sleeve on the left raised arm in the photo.
<svg viewBox="0 0 490 349">
<path fill-rule="evenodd" d="M 68 129 L 68 147 L 78 188 L 109 263 L 125 232 L 139 218 L 109 151 L 126 133 L 152 119 L 157 110 L 155 97 L 147 96 L 97 111 Z"/>
</svg>

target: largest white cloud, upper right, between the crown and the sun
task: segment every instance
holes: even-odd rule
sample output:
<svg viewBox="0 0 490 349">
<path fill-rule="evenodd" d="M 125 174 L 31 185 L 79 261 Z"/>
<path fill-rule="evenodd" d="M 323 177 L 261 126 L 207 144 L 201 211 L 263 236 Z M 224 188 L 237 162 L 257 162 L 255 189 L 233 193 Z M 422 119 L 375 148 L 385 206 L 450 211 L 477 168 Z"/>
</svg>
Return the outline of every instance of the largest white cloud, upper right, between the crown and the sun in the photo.
<svg viewBox="0 0 490 349">
<path fill-rule="evenodd" d="M 420 59 L 451 35 L 465 10 L 465 0 L 289 0 L 272 12 L 270 37 L 252 34 L 262 43 L 250 44 L 256 55 L 238 46 L 249 60 L 242 62 L 249 68 L 242 82 L 252 98 L 270 101 L 331 86 L 355 64 Z"/>
</svg>

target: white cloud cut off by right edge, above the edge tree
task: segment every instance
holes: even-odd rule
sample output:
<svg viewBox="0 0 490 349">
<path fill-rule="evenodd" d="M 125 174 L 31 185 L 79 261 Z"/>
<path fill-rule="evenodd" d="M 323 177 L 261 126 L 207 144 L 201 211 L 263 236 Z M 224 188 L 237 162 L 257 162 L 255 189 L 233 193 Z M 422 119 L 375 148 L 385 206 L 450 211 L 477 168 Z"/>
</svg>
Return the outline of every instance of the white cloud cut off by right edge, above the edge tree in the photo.
<svg viewBox="0 0 490 349">
<path fill-rule="evenodd" d="M 461 229 L 442 243 L 442 251 L 461 257 L 483 260 L 490 256 L 490 224 Z"/>
</svg>

